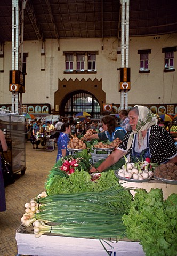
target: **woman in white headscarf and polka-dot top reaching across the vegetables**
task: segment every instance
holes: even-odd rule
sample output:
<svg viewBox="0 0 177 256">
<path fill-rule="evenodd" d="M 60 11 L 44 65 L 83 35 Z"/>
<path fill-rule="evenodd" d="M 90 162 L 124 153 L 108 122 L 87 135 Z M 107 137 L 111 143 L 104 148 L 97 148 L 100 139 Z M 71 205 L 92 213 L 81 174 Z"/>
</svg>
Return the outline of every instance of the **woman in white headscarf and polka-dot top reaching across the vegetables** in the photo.
<svg viewBox="0 0 177 256">
<path fill-rule="evenodd" d="M 130 161 L 144 160 L 146 157 L 154 163 L 177 163 L 177 148 L 170 133 L 157 125 L 157 118 L 147 107 L 136 105 L 128 114 L 132 132 L 127 132 L 116 151 L 92 172 L 102 172 L 128 154 Z"/>
</svg>

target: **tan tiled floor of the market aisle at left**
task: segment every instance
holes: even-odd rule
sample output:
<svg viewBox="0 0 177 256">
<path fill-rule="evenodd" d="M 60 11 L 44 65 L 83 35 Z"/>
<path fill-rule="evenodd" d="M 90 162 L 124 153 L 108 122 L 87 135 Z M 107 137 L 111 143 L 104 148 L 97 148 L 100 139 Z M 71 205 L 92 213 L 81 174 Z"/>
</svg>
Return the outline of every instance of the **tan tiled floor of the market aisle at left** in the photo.
<svg viewBox="0 0 177 256">
<path fill-rule="evenodd" d="M 5 212 L 0 212 L 0 255 L 18 254 L 15 231 L 21 225 L 25 213 L 25 203 L 44 191 L 44 183 L 49 171 L 55 164 L 57 148 L 48 152 L 43 149 L 33 150 L 30 142 L 26 143 L 26 172 L 15 175 L 15 183 L 5 188 Z"/>
</svg>

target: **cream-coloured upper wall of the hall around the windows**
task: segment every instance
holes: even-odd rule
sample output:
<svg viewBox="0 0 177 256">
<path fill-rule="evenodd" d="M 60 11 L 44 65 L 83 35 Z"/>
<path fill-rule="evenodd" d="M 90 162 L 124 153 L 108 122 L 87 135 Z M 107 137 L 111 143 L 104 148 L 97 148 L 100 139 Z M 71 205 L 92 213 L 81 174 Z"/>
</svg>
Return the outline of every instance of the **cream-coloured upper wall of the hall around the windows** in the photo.
<svg viewBox="0 0 177 256">
<path fill-rule="evenodd" d="M 155 37 L 155 39 L 154 39 Z M 164 53 L 162 48 L 177 44 L 177 34 L 131 37 L 130 58 L 131 90 L 128 103 L 176 103 L 176 71 L 164 73 Z M 75 80 L 101 79 L 106 92 L 106 103 L 120 103 L 118 91 L 121 55 L 117 54 L 117 38 L 104 38 L 104 49 L 101 50 L 101 38 L 98 39 L 60 39 L 60 51 L 56 40 L 45 42 L 45 71 L 41 71 L 41 43 L 25 41 L 23 52 L 28 53 L 27 75 L 25 76 L 25 94 L 23 103 L 50 103 L 54 107 L 54 92 L 58 90 L 58 79 Z M 138 50 L 151 49 L 149 54 L 150 73 L 140 74 L 140 55 Z M 64 74 L 65 56 L 63 51 L 98 51 L 96 55 L 96 74 Z M 177 67 L 177 52 L 174 52 Z M 0 102 L 11 103 L 9 92 L 9 70 L 11 70 L 11 42 L 4 47 L 4 73 L 0 73 Z M 64 96 L 64 95 L 63 95 Z M 46 98 L 48 97 L 48 98 Z"/>
</svg>

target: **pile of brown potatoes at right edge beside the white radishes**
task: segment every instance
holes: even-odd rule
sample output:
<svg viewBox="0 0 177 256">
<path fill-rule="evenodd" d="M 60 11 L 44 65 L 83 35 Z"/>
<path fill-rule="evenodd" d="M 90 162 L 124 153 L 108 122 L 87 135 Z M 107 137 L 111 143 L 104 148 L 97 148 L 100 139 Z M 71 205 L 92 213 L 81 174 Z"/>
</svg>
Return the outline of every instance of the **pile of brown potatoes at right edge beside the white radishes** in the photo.
<svg viewBox="0 0 177 256">
<path fill-rule="evenodd" d="M 174 163 L 160 164 L 155 168 L 154 175 L 166 180 L 177 181 L 177 165 Z"/>
</svg>

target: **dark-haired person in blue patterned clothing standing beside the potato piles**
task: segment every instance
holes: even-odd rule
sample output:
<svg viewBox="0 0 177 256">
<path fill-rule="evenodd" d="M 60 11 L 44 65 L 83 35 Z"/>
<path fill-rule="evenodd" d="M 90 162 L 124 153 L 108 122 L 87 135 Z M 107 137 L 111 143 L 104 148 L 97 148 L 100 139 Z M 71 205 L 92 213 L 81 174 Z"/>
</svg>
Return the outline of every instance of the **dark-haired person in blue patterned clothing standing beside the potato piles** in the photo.
<svg viewBox="0 0 177 256">
<path fill-rule="evenodd" d="M 58 153 L 57 153 L 57 160 L 60 159 L 61 157 L 65 157 L 68 155 L 68 141 L 69 141 L 69 134 L 71 133 L 71 126 L 69 123 L 64 123 L 61 126 L 61 133 L 57 141 L 57 146 L 58 146 Z"/>
</svg>

